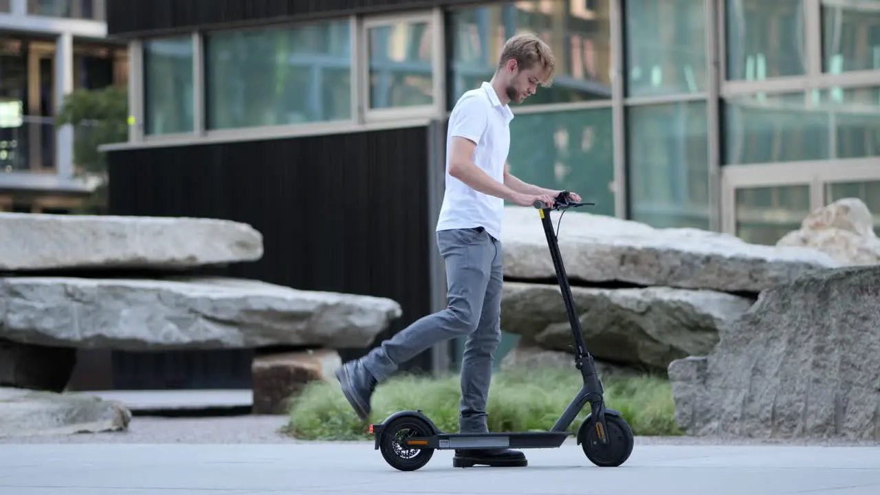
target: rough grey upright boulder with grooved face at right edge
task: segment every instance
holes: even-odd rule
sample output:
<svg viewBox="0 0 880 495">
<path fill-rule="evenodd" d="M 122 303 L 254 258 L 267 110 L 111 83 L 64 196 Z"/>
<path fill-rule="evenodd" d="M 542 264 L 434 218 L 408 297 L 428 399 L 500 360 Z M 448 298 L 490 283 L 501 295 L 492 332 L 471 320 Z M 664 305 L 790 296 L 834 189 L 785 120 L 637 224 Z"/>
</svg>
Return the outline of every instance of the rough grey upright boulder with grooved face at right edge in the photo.
<svg viewBox="0 0 880 495">
<path fill-rule="evenodd" d="M 880 441 L 880 266 L 762 292 L 704 357 L 669 366 L 691 435 Z"/>
</svg>

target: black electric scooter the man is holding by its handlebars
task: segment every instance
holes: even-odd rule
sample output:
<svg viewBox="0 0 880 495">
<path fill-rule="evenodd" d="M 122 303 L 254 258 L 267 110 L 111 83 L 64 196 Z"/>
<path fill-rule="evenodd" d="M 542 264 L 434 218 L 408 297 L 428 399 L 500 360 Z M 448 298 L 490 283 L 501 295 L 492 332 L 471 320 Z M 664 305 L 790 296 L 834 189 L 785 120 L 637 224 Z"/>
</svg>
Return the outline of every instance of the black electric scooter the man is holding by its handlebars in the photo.
<svg viewBox="0 0 880 495">
<path fill-rule="evenodd" d="M 583 342 L 583 332 L 568 277 L 562 266 L 559 244 L 550 222 L 550 211 L 562 211 L 561 214 L 564 214 L 568 208 L 593 204 L 573 202 L 568 191 L 562 191 L 553 205 L 540 201 L 533 205 L 539 210 L 541 224 L 544 225 L 556 278 L 575 337 L 575 367 L 583 377 L 583 386 L 553 428 L 549 432 L 447 433 L 440 431 L 429 417 L 422 414 L 422 410 L 403 410 L 395 412 L 378 425 L 370 425 L 370 433 L 375 436 L 375 449 L 381 451 L 385 462 L 401 471 L 414 471 L 427 464 L 435 450 L 561 447 L 573 434 L 568 432 L 568 426 L 586 403 L 590 403 L 590 414 L 584 418 L 577 432 L 577 444 L 582 446 L 583 454 L 599 467 L 616 467 L 627 461 L 633 451 L 633 431 L 619 411 L 605 408 L 602 381 Z"/>
</svg>

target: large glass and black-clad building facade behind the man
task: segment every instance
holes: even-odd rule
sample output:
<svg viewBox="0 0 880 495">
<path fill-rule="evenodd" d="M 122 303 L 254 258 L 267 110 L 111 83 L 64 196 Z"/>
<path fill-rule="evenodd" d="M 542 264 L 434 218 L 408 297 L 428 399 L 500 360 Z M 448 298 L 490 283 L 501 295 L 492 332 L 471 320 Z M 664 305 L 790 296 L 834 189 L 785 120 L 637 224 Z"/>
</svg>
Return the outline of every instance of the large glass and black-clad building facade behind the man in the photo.
<svg viewBox="0 0 880 495">
<path fill-rule="evenodd" d="M 514 108 L 525 181 L 765 244 L 842 196 L 880 225 L 880 0 L 129 0 L 107 18 L 132 115 L 106 147 L 111 211 L 247 221 L 267 255 L 231 270 L 392 297 L 390 332 L 444 305 L 444 124 L 521 31 L 558 59 Z"/>
</svg>

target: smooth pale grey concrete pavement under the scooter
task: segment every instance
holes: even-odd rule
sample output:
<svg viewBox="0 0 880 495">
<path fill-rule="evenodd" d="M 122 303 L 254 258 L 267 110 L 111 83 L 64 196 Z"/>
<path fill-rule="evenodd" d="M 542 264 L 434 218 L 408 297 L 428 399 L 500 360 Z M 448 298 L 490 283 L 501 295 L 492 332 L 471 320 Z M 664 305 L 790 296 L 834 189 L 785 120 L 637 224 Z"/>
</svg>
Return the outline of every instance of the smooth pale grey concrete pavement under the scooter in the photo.
<svg viewBox="0 0 880 495">
<path fill-rule="evenodd" d="M 392 469 L 368 443 L 0 445 L 2 495 L 759 495 L 880 493 L 877 447 L 636 444 L 620 468 L 580 447 L 528 450 L 529 466 Z"/>
</svg>

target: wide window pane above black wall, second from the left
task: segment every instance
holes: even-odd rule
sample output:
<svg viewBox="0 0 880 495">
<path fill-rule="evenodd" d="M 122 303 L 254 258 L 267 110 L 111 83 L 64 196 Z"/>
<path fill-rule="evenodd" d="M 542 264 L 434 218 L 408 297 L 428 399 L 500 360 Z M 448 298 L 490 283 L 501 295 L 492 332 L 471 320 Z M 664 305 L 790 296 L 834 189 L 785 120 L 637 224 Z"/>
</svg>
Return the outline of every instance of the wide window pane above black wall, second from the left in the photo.
<svg viewBox="0 0 880 495">
<path fill-rule="evenodd" d="M 347 19 L 205 35 L 208 129 L 351 117 Z"/>
</svg>

